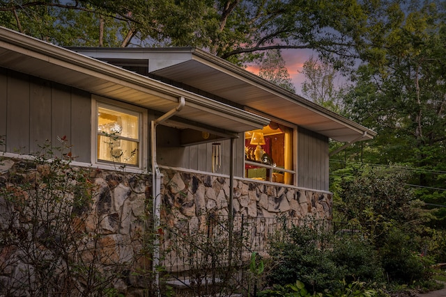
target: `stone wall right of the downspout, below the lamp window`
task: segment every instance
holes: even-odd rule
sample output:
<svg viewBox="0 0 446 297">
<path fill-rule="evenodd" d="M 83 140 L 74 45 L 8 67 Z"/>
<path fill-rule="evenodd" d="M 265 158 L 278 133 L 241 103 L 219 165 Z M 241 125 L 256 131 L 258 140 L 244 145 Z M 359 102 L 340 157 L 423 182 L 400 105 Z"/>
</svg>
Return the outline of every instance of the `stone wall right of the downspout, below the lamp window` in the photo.
<svg viewBox="0 0 446 297">
<path fill-rule="evenodd" d="M 164 214 L 170 225 L 174 218 L 197 220 L 203 214 L 228 215 L 229 178 L 201 173 L 162 170 L 164 206 L 174 209 Z M 236 179 L 233 189 L 234 216 L 247 218 L 332 218 L 332 195 L 288 186 Z"/>
</svg>

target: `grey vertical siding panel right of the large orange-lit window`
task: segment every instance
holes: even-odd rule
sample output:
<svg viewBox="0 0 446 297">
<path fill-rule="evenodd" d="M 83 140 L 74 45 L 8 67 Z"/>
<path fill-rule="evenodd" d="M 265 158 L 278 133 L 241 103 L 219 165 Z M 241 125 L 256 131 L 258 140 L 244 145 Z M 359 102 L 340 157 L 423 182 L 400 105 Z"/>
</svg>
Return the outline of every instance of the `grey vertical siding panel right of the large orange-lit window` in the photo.
<svg viewBox="0 0 446 297">
<path fill-rule="evenodd" d="M 328 191 L 328 138 L 298 128 L 298 186 Z"/>
</svg>

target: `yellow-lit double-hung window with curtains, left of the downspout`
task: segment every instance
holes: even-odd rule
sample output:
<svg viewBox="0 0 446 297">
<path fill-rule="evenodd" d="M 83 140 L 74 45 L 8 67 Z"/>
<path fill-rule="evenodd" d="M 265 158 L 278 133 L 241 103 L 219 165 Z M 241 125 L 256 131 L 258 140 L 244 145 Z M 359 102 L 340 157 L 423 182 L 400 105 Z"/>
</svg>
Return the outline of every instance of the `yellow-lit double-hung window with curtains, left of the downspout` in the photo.
<svg viewBox="0 0 446 297">
<path fill-rule="evenodd" d="M 141 167 L 141 113 L 96 104 L 96 161 Z"/>
</svg>

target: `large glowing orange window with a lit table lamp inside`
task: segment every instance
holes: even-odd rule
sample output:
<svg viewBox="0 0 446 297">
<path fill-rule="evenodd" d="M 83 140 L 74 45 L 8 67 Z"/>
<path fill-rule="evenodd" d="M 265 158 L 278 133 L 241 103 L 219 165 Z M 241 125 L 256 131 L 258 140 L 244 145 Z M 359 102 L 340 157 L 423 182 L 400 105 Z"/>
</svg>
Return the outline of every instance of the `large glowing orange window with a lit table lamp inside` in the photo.
<svg viewBox="0 0 446 297">
<path fill-rule="evenodd" d="M 293 133 L 276 122 L 245 132 L 245 177 L 294 184 Z"/>
</svg>

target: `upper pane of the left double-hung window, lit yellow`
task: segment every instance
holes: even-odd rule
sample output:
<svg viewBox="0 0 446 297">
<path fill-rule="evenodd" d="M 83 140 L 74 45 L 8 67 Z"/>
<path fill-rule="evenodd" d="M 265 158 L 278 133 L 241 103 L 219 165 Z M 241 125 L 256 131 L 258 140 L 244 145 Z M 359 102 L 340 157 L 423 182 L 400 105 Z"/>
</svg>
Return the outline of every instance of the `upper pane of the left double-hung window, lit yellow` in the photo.
<svg viewBox="0 0 446 297">
<path fill-rule="evenodd" d="M 125 138 L 139 138 L 139 117 L 104 107 L 98 108 L 98 133 L 113 134 Z"/>
</svg>

